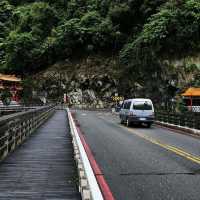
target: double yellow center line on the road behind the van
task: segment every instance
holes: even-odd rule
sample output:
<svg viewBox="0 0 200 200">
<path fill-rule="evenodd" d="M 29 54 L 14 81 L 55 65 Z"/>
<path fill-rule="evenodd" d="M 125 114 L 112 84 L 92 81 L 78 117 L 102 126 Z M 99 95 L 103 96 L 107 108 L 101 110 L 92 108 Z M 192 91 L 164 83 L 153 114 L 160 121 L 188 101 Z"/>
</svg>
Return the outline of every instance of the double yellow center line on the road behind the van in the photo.
<svg viewBox="0 0 200 200">
<path fill-rule="evenodd" d="M 136 133 L 135 131 L 133 131 L 130 128 L 126 128 L 126 127 L 123 127 L 123 128 L 127 129 L 129 132 L 137 135 L 140 138 L 143 138 L 143 139 L 145 139 L 145 140 L 147 140 L 147 141 L 149 141 L 149 142 L 151 142 L 153 144 L 156 144 L 156 145 L 158 145 L 158 146 L 160 146 L 160 147 L 162 147 L 164 149 L 167 149 L 167 150 L 169 150 L 169 151 L 171 151 L 171 152 L 173 152 L 173 153 L 175 153 L 175 154 L 177 154 L 179 156 L 182 156 L 182 157 L 184 157 L 184 158 L 186 158 L 188 160 L 191 160 L 191 161 L 193 161 L 193 162 L 195 162 L 197 164 L 200 164 L 200 157 L 199 156 L 192 155 L 192 154 L 190 154 L 190 153 L 188 153 L 188 152 L 186 152 L 186 151 L 184 151 L 182 149 L 179 149 L 177 147 L 165 144 L 165 143 L 163 143 L 163 142 L 161 142 L 159 140 L 155 140 L 155 139 L 153 139 L 151 137 L 148 137 L 148 136 L 146 136 L 146 135 L 144 135 L 142 133 Z"/>
</svg>

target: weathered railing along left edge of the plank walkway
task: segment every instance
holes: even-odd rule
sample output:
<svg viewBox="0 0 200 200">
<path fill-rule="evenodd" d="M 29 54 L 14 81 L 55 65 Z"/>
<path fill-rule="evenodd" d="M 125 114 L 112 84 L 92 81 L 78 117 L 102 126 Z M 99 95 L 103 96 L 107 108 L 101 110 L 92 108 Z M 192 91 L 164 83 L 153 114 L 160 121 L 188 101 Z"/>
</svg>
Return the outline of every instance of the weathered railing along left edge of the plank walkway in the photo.
<svg viewBox="0 0 200 200">
<path fill-rule="evenodd" d="M 54 110 L 54 106 L 46 106 L 0 117 L 0 160 L 23 143 Z"/>
</svg>

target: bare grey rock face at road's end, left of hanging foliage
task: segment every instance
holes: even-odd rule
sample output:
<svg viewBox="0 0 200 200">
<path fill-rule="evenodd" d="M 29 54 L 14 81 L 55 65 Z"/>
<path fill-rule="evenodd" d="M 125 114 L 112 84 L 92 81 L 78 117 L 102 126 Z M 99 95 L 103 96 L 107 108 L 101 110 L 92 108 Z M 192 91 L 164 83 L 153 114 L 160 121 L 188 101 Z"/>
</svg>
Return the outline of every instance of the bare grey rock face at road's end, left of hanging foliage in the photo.
<svg viewBox="0 0 200 200">
<path fill-rule="evenodd" d="M 118 93 L 116 66 L 114 58 L 102 56 L 57 63 L 36 75 L 38 90 L 47 91 L 48 99 L 62 99 L 65 93 L 76 107 L 105 108 Z"/>
</svg>

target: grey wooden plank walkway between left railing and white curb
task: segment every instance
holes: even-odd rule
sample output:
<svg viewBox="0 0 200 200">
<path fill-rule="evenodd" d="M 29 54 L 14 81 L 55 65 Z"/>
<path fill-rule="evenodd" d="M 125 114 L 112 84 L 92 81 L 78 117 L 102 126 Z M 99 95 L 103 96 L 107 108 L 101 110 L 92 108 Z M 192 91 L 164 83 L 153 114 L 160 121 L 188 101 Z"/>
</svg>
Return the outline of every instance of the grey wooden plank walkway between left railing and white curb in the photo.
<svg viewBox="0 0 200 200">
<path fill-rule="evenodd" d="M 0 200 L 79 200 L 65 111 L 0 163 Z"/>
</svg>

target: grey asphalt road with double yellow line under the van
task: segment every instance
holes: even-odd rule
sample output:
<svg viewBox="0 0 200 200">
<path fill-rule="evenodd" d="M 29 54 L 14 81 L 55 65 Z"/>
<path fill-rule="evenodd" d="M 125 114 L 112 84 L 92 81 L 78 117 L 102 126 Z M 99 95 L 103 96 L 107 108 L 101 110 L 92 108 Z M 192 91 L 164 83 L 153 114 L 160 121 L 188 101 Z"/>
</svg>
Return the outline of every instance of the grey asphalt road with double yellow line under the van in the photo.
<svg viewBox="0 0 200 200">
<path fill-rule="evenodd" d="M 200 140 L 156 126 L 126 128 L 117 116 L 76 111 L 117 200 L 199 200 Z"/>
</svg>

